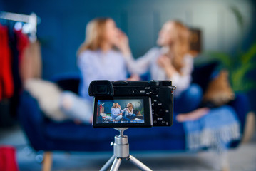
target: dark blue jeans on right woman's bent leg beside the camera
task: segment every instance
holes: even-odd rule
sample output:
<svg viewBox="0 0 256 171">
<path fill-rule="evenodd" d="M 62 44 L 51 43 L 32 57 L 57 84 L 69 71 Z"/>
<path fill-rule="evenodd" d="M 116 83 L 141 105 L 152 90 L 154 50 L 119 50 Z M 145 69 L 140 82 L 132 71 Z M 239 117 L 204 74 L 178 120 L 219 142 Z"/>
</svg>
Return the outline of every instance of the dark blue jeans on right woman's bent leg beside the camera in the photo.
<svg viewBox="0 0 256 171">
<path fill-rule="evenodd" d="M 197 84 L 191 84 L 178 97 L 174 95 L 174 113 L 188 113 L 198 108 L 203 97 L 203 90 Z"/>
</svg>

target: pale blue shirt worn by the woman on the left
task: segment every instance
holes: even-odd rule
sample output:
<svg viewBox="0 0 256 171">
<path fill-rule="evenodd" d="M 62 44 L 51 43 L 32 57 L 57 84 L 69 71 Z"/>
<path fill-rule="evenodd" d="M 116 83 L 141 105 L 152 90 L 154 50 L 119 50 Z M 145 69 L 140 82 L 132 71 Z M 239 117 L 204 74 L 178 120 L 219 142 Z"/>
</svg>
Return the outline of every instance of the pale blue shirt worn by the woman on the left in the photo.
<svg viewBox="0 0 256 171">
<path fill-rule="evenodd" d="M 118 51 L 86 50 L 78 57 L 78 68 L 81 71 L 80 95 L 89 98 L 88 87 L 93 80 L 126 80 L 126 63 Z"/>
</svg>

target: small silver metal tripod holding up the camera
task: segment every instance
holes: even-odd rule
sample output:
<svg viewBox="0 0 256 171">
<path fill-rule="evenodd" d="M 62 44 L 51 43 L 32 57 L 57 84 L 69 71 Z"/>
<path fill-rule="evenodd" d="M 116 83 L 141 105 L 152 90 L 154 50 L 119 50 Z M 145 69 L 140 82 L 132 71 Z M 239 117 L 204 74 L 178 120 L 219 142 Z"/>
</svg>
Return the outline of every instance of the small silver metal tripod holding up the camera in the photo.
<svg viewBox="0 0 256 171">
<path fill-rule="evenodd" d="M 111 166 L 111 171 L 118 171 L 119 166 L 121 165 L 122 159 L 129 160 L 133 163 L 133 165 L 140 168 L 140 170 L 145 171 L 152 171 L 150 168 L 148 168 L 146 165 L 144 165 L 140 160 L 136 159 L 132 155 L 130 155 L 129 152 L 129 143 L 128 143 L 128 137 L 126 135 L 123 135 L 123 131 L 127 130 L 128 128 L 114 128 L 119 131 L 120 135 L 115 136 L 115 143 L 114 146 L 114 155 L 106 162 L 103 167 L 101 167 L 100 171 L 105 171 L 108 169 L 108 167 L 111 166 L 111 163 L 113 162 Z"/>
</svg>

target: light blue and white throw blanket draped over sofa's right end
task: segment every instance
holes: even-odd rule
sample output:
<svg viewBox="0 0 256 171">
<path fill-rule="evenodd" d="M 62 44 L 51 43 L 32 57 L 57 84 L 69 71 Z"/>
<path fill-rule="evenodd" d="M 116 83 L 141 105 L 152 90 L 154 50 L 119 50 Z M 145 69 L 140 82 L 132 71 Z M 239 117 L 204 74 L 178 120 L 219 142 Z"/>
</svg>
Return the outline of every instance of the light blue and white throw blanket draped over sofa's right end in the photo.
<svg viewBox="0 0 256 171">
<path fill-rule="evenodd" d="M 198 120 L 183 123 L 188 150 L 204 147 L 222 152 L 227 150 L 232 140 L 240 138 L 240 123 L 235 110 L 229 106 L 211 109 Z"/>
</svg>

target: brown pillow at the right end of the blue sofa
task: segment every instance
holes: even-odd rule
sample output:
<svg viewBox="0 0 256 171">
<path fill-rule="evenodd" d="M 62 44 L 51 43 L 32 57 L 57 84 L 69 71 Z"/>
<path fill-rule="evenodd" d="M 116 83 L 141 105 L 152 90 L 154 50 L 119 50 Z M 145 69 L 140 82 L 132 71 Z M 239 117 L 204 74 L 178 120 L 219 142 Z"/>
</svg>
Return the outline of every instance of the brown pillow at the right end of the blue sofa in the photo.
<svg viewBox="0 0 256 171">
<path fill-rule="evenodd" d="M 219 75 L 208 84 L 208 88 L 203 95 L 203 104 L 208 107 L 219 107 L 225 105 L 230 100 L 234 100 L 233 92 L 228 81 L 228 72 L 220 71 Z"/>
</svg>

